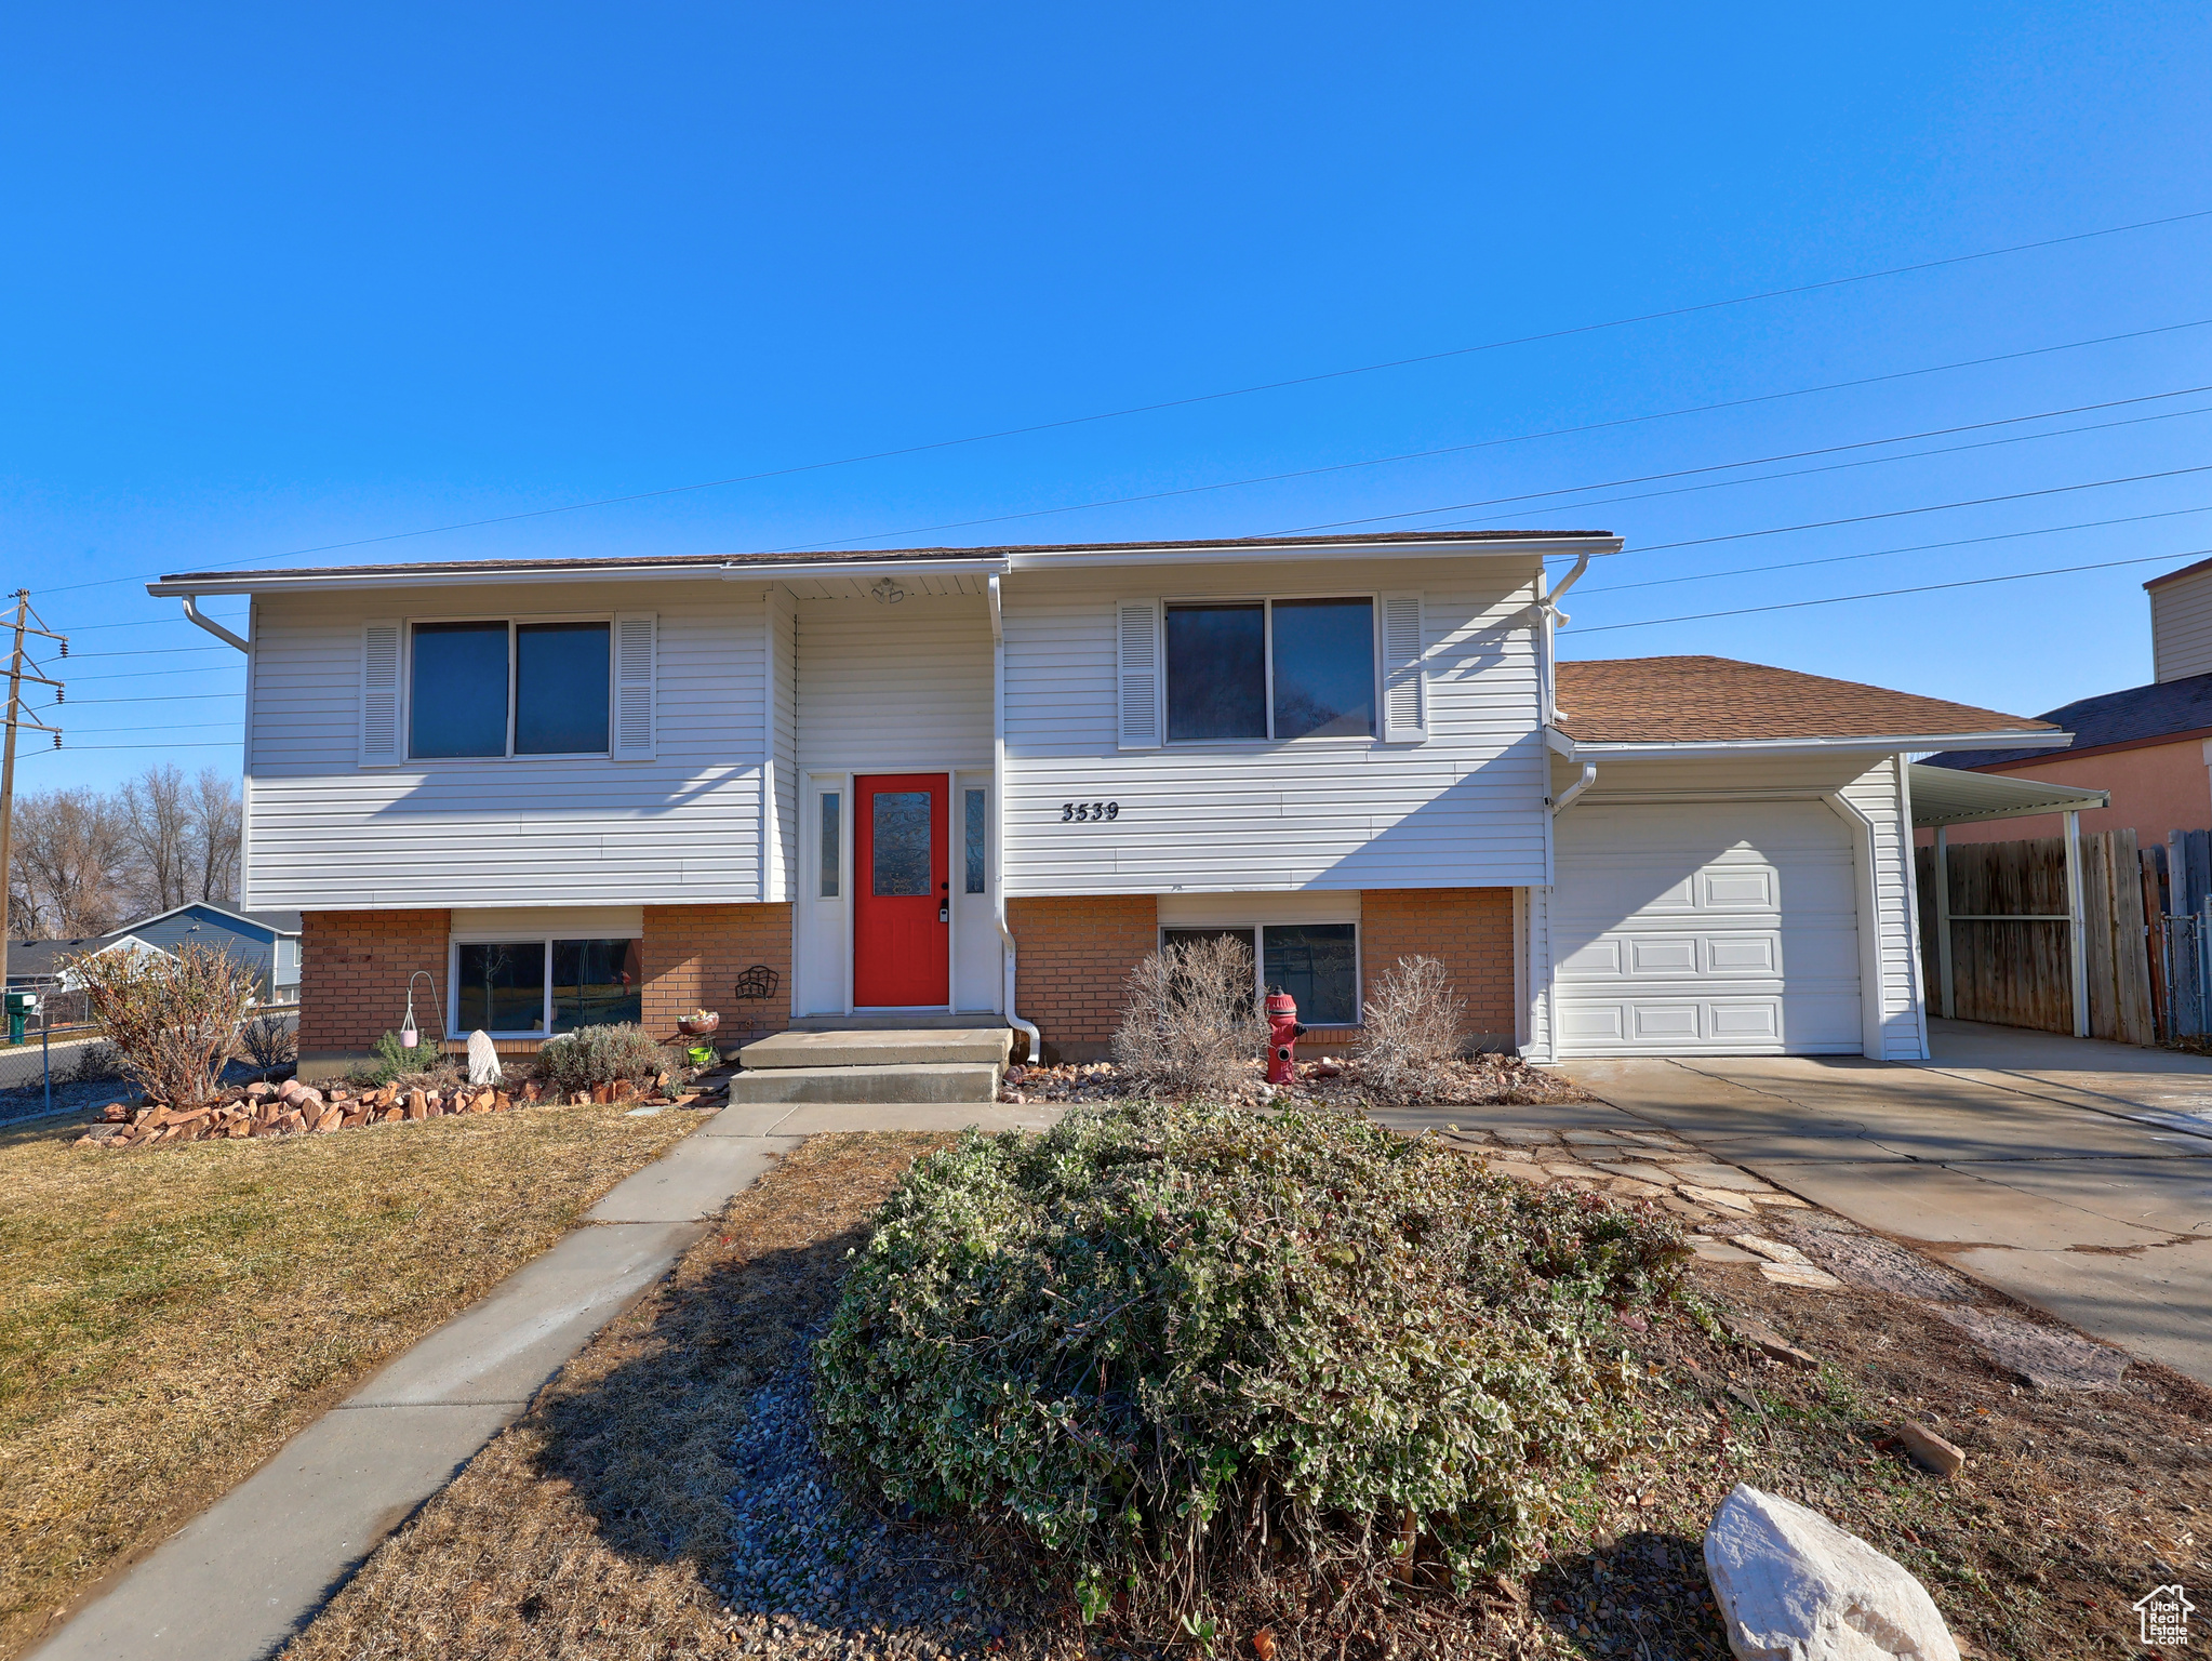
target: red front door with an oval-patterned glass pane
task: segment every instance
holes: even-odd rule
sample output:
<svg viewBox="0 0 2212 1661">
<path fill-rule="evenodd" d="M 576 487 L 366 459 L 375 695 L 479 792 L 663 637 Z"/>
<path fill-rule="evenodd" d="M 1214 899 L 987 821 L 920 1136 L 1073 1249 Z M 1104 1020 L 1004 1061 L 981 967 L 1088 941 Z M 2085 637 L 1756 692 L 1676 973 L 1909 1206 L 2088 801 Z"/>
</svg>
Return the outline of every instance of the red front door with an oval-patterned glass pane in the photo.
<svg viewBox="0 0 2212 1661">
<path fill-rule="evenodd" d="M 951 1002 L 951 880 L 942 772 L 852 781 L 852 1002 Z"/>
</svg>

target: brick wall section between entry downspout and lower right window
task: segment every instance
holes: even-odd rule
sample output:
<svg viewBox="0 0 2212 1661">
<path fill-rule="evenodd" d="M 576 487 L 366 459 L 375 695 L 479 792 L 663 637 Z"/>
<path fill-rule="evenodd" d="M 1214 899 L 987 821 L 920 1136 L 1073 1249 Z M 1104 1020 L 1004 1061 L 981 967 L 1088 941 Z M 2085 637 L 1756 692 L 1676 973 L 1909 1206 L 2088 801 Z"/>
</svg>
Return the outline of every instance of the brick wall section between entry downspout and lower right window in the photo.
<svg viewBox="0 0 2212 1661">
<path fill-rule="evenodd" d="M 1121 1024 L 1121 982 L 1159 944 L 1150 894 L 1006 900 L 1020 984 L 1013 1009 L 1035 1022 L 1048 1062 L 1099 1062 Z"/>
</svg>

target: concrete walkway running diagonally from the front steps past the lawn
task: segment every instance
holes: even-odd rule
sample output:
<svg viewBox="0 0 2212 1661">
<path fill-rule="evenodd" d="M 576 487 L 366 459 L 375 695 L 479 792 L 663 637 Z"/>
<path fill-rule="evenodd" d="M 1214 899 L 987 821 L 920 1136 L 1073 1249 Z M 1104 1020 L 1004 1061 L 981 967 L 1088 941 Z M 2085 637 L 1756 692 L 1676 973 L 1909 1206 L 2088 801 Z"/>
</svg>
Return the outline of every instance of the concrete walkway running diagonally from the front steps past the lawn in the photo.
<svg viewBox="0 0 2212 1661">
<path fill-rule="evenodd" d="M 593 1334 L 821 1130 L 1044 1126 L 1051 1108 L 726 1108 L 617 1183 L 584 1228 L 385 1365 L 31 1652 L 35 1661 L 259 1661 L 438 1493 Z"/>
</svg>

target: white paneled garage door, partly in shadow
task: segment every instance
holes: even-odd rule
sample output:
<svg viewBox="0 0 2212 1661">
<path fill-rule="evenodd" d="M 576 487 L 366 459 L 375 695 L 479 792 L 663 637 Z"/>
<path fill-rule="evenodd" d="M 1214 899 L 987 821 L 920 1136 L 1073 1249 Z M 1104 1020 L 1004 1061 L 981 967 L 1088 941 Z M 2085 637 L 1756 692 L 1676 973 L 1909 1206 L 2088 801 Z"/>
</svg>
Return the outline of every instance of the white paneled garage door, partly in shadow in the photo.
<svg viewBox="0 0 2212 1661">
<path fill-rule="evenodd" d="M 1851 834 L 1816 801 L 1575 807 L 1551 896 L 1562 1055 L 1858 1055 Z"/>
</svg>

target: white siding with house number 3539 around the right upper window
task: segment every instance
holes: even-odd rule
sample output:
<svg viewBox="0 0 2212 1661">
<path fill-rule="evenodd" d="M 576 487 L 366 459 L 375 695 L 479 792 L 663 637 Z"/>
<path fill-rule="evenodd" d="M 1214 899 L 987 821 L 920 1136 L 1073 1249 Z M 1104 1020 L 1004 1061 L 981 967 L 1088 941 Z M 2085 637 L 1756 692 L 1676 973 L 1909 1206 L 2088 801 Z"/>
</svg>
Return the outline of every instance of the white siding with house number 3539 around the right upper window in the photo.
<svg viewBox="0 0 2212 1661">
<path fill-rule="evenodd" d="M 1356 582 L 1345 577 L 1356 571 Z M 1006 579 L 1006 891 L 1513 887 L 1546 880 L 1537 664 L 1515 613 L 1537 562 L 1188 566 L 1175 597 L 1422 595 L 1429 741 L 1121 748 L 1128 573 Z M 1418 588 L 1416 588 L 1418 584 Z M 1113 823 L 1062 803 L 1117 801 Z"/>
</svg>

